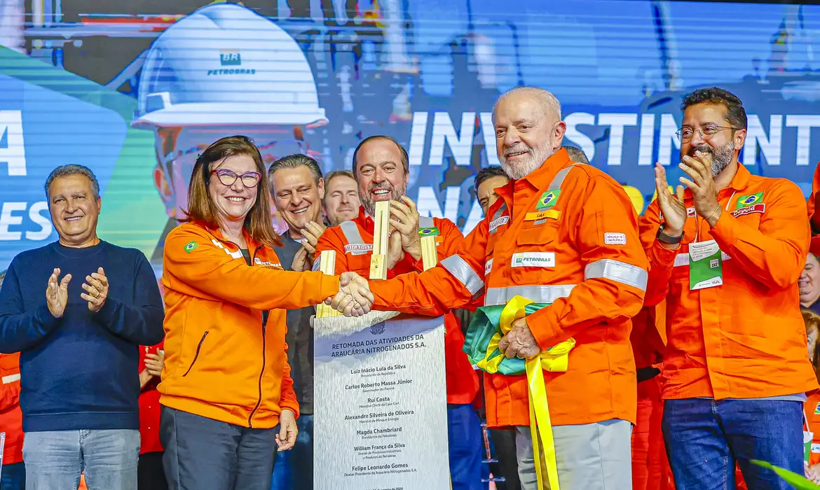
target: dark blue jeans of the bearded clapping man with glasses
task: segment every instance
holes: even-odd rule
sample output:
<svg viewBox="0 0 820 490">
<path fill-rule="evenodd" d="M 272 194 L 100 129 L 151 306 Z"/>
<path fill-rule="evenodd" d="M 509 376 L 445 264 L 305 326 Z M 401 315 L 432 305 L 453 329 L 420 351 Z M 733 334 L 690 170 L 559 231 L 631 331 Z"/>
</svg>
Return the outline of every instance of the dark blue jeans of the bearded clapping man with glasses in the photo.
<svg viewBox="0 0 820 490">
<path fill-rule="evenodd" d="M 803 404 L 784 400 L 667 400 L 663 440 L 677 490 L 735 488 L 735 462 L 749 490 L 788 490 L 768 461 L 803 474 Z"/>
</svg>

